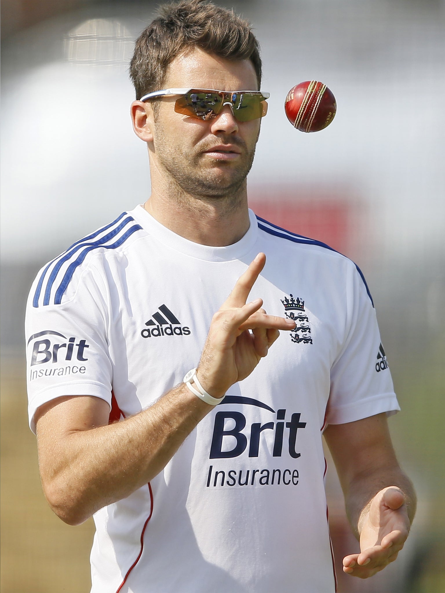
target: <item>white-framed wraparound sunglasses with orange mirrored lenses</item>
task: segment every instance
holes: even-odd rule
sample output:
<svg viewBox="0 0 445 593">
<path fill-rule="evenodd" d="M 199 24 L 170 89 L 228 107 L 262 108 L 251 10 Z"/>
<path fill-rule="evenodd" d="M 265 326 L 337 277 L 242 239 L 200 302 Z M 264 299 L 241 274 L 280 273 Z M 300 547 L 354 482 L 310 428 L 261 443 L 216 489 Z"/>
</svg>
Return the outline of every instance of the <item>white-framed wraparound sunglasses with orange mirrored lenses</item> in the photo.
<svg viewBox="0 0 445 593">
<path fill-rule="evenodd" d="M 215 91 L 206 88 L 167 88 L 141 97 L 140 101 L 170 95 L 181 95 L 174 103 L 176 113 L 210 120 L 230 105 L 235 119 L 250 122 L 266 115 L 271 94 L 263 91 Z"/>
</svg>

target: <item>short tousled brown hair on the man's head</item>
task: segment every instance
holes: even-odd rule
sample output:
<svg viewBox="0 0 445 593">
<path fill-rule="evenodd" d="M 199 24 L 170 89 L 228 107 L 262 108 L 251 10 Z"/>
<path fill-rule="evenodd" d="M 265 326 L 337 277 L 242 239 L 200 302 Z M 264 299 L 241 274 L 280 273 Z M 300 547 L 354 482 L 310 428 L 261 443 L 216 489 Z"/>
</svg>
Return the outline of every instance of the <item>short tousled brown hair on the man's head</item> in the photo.
<svg viewBox="0 0 445 593">
<path fill-rule="evenodd" d="M 199 47 L 219 58 L 250 60 L 259 88 L 259 43 L 250 23 L 207 0 L 164 4 L 159 12 L 160 16 L 136 40 L 130 63 L 136 99 L 161 90 L 170 63 L 189 47 Z"/>
</svg>

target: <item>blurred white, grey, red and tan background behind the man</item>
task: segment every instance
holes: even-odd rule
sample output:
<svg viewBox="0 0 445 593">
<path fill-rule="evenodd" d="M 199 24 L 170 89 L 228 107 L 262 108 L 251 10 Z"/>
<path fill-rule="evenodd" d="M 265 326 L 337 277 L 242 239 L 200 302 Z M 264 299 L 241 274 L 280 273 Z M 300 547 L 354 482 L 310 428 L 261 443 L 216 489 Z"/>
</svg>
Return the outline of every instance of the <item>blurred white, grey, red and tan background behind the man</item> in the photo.
<svg viewBox="0 0 445 593">
<path fill-rule="evenodd" d="M 2 593 L 90 589 L 93 524 L 64 525 L 40 487 L 27 428 L 24 307 L 43 263 L 150 195 L 146 149 L 129 119 L 128 63 L 157 4 L 1 3 Z M 217 4 L 253 23 L 262 88 L 271 93 L 251 206 L 361 267 L 402 407 L 390 429 L 419 495 L 412 536 L 374 578 L 343 575 L 342 556 L 358 544 L 331 464 L 338 591 L 443 593 L 444 2 Z M 304 134 L 283 104 L 291 87 L 311 79 L 328 85 L 338 111 L 327 129 Z"/>
</svg>

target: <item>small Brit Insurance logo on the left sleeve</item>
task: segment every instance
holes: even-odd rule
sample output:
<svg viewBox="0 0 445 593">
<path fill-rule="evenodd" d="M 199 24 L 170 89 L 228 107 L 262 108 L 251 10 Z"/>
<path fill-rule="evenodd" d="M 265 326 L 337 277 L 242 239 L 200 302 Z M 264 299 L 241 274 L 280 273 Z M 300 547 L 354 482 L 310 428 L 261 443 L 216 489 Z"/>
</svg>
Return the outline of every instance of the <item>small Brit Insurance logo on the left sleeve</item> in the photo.
<svg viewBox="0 0 445 593">
<path fill-rule="evenodd" d="M 31 347 L 30 381 L 41 377 L 83 375 L 88 361 L 87 340 L 65 336 L 59 331 L 43 330 L 33 334 L 27 342 Z M 35 368 L 37 367 L 37 368 Z"/>
</svg>

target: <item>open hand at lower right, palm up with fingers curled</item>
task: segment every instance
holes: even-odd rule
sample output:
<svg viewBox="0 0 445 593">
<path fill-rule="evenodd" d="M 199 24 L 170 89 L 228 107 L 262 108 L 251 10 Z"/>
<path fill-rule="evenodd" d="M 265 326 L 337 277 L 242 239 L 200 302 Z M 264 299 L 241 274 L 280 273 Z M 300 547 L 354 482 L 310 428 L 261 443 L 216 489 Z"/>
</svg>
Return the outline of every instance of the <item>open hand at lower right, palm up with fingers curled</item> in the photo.
<svg viewBox="0 0 445 593">
<path fill-rule="evenodd" d="M 366 579 L 393 562 L 409 533 L 405 496 L 397 486 L 377 492 L 361 519 L 360 554 L 343 559 L 343 570 Z"/>
</svg>

